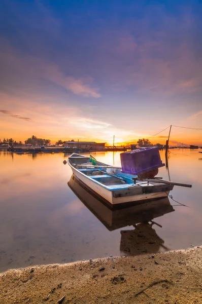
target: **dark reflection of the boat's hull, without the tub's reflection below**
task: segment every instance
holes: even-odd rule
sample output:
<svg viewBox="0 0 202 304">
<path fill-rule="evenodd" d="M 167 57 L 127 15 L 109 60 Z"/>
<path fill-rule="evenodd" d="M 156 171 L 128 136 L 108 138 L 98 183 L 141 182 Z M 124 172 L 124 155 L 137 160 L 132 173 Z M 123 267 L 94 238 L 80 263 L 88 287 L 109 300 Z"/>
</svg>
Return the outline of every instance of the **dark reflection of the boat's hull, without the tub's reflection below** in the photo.
<svg viewBox="0 0 202 304">
<path fill-rule="evenodd" d="M 134 226 L 138 223 L 154 223 L 154 218 L 175 211 L 169 198 L 163 198 L 151 202 L 143 201 L 134 206 L 124 206 L 124 208 L 121 209 L 113 209 L 89 191 L 74 175 L 72 175 L 68 185 L 80 201 L 100 222 L 106 226 L 109 231 L 114 231 L 131 225 Z"/>
</svg>

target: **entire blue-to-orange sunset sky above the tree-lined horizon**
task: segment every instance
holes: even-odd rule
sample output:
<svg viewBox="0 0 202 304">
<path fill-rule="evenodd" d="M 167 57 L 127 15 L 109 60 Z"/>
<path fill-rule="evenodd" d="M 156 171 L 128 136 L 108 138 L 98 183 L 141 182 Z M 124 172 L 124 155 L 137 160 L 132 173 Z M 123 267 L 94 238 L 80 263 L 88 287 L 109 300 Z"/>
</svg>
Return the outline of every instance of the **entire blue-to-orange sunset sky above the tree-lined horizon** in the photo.
<svg viewBox="0 0 202 304">
<path fill-rule="evenodd" d="M 164 143 L 202 130 L 202 2 L 2 0 L 0 138 Z M 171 144 L 202 145 L 172 128 Z"/>
</svg>

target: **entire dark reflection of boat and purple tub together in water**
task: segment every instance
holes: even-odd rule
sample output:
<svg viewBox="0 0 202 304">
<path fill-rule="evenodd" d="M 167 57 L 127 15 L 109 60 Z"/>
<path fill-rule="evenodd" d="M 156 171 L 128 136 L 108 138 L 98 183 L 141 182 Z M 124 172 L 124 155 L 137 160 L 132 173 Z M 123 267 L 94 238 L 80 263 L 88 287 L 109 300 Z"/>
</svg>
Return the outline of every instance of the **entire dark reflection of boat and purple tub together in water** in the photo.
<svg viewBox="0 0 202 304">
<path fill-rule="evenodd" d="M 111 209 L 104 202 L 97 199 L 72 175 L 69 187 L 82 203 L 106 226 L 109 231 L 133 226 L 132 230 L 121 231 L 120 251 L 124 255 L 155 253 L 169 250 L 163 245 L 153 225 L 158 223 L 153 219 L 175 211 L 168 198 L 140 203 L 122 209 Z"/>
</svg>

